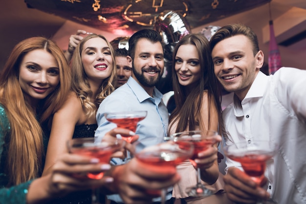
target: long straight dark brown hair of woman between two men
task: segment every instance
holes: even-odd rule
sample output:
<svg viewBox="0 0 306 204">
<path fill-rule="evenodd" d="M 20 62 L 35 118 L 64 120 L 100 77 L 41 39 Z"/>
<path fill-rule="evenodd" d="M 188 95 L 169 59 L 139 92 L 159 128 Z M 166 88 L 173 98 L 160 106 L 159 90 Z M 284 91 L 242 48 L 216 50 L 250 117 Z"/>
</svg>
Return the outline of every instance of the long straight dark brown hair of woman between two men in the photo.
<svg viewBox="0 0 306 204">
<path fill-rule="evenodd" d="M 196 46 L 199 55 L 200 77 L 196 87 L 191 92 L 187 91 L 186 86 L 182 86 L 178 82 L 175 72 L 175 56 L 178 48 L 181 45 L 192 44 Z M 208 110 L 214 105 L 218 110 L 219 125 L 221 125 L 221 104 L 220 104 L 220 86 L 214 73 L 214 66 L 209 49 L 208 40 L 201 34 L 189 34 L 184 36 L 175 46 L 173 52 L 172 79 L 175 97 L 175 109 L 171 113 L 168 130 L 171 130 L 172 125 L 177 122 L 175 132 L 195 130 L 196 119 L 195 114 L 200 112 L 204 91 L 208 94 Z M 208 115 L 210 121 L 210 111 Z M 188 127 L 187 127 L 188 125 Z M 207 130 L 210 128 L 209 124 Z M 169 131 L 168 131 L 169 133 Z"/>
</svg>

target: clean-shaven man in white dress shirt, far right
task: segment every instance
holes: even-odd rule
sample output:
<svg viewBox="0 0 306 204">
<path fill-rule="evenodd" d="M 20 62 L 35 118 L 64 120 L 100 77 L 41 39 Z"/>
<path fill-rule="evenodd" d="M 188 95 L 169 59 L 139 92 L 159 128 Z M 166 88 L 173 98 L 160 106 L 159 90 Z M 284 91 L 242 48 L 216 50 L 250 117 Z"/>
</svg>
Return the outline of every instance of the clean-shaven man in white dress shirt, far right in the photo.
<svg viewBox="0 0 306 204">
<path fill-rule="evenodd" d="M 257 37 L 244 25 L 220 28 L 210 46 L 219 82 L 235 93 L 223 111 L 227 144 L 268 139 L 279 145 L 262 187 L 227 160 L 228 197 L 237 203 L 271 196 L 279 204 L 306 204 L 306 70 L 283 67 L 264 75 Z"/>
</svg>

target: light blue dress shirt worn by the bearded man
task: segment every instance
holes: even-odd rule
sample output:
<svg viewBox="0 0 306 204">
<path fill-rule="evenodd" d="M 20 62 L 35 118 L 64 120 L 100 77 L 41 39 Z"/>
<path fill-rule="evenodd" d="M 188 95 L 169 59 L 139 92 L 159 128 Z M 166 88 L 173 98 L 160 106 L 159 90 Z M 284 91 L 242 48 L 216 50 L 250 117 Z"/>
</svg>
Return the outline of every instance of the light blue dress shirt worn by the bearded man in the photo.
<svg viewBox="0 0 306 204">
<path fill-rule="evenodd" d="M 153 97 L 151 97 L 142 86 L 130 77 L 126 84 L 117 88 L 100 104 L 96 115 L 98 128 L 95 133 L 95 140 L 101 140 L 106 132 L 116 127 L 116 124 L 106 120 L 104 113 L 146 110 L 148 111 L 147 117 L 137 124 L 135 133 L 139 135 L 138 141 L 144 147 L 164 142 L 168 130 L 169 114 L 162 98 L 162 93 L 156 88 L 154 88 Z M 119 159 L 113 161 L 116 164 L 123 163 Z M 111 196 L 108 197 L 120 202 L 120 200 Z"/>
</svg>

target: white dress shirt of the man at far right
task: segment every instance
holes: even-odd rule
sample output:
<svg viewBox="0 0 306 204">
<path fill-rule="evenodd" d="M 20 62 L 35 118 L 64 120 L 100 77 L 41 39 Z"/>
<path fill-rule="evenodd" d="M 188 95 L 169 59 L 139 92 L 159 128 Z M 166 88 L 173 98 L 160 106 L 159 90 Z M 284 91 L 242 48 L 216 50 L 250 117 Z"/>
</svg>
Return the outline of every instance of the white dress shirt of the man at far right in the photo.
<svg viewBox="0 0 306 204">
<path fill-rule="evenodd" d="M 255 138 L 278 143 L 265 171 L 267 191 L 279 204 L 306 204 L 306 70 L 259 72 L 242 102 L 234 96 L 222 115 L 234 143 Z M 240 165 L 229 159 L 226 164 Z"/>
</svg>

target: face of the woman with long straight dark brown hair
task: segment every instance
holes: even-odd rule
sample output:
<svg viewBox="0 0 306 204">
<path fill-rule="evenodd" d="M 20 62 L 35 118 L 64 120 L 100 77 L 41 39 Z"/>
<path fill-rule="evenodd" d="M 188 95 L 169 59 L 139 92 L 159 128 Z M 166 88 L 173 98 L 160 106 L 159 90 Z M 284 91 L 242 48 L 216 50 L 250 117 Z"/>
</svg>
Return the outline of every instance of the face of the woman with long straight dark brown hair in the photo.
<svg viewBox="0 0 306 204">
<path fill-rule="evenodd" d="M 179 46 L 175 55 L 175 72 L 178 82 L 192 88 L 200 79 L 200 63 L 197 48 L 193 44 Z"/>
</svg>

